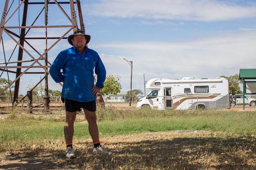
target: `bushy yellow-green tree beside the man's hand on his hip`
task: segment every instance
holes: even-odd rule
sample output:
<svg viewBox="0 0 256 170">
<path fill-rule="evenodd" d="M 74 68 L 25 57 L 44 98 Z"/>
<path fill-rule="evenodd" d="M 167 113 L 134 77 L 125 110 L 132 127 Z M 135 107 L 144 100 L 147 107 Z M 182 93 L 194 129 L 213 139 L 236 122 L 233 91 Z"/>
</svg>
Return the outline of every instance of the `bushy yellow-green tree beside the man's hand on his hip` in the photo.
<svg viewBox="0 0 256 170">
<path fill-rule="evenodd" d="M 113 76 L 112 74 L 109 74 L 106 76 L 105 82 L 104 82 L 104 88 L 100 89 L 101 95 L 108 95 L 108 94 L 114 94 L 120 93 L 122 87 L 120 80 L 121 78 L 117 76 Z"/>
</svg>

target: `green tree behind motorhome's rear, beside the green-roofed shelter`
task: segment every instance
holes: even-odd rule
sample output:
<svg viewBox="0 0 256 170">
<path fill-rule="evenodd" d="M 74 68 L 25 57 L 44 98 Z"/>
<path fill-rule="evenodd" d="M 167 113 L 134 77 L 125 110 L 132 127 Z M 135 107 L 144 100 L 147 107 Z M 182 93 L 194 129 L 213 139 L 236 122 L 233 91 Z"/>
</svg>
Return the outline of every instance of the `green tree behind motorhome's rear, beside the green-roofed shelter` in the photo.
<svg viewBox="0 0 256 170">
<path fill-rule="evenodd" d="M 242 80 L 239 80 L 239 75 L 231 75 L 229 77 L 220 76 L 229 79 L 229 93 L 230 94 L 242 94 L 239 84 L 242 84 Z"/>
</svg>

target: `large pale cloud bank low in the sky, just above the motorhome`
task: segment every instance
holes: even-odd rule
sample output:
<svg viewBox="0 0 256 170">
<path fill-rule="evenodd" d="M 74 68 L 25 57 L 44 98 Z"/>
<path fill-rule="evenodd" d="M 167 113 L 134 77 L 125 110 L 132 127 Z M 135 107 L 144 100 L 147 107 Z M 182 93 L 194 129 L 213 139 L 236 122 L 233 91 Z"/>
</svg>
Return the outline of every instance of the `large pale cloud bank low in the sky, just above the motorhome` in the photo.
<svg viewBox="0 0 256 170">
<path fill-rule="evenodd" d="M 244 31 L 179 43 L 109 42 L 92 48 L 120 51 L 119 56 L 100 56 L 107 72 L 121 76 L 123 90 L 129 90 L 130 82 L 130 66 L 123 58 L 133 61 L 133 89 L 142 90 L 144 74 L 147 80 L 162 76 L 215 78 L 238 74 L 242 68 L 255 68 L 255 46 L 256 31 Z"/>
</svg>

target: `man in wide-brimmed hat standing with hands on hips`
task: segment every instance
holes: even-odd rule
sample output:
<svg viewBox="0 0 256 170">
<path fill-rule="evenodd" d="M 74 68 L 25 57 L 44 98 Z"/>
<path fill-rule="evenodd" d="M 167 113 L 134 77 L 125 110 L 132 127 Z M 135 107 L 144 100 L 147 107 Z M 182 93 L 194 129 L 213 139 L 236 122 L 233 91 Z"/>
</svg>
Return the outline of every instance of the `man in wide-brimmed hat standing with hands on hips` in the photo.
<svg viewBox="0 0 256 170">
<path fill-rule="evenodd" d="M 67 158 L 75 158 L 72 140 L 75 117 L 80 108 L 83 108 L 89 124 L 89 133 L 94 145 L 93 153 L 105 153 L 99 141 L 95 99 L 96 94 L 103 88 L 106 69 L 98 53 L 86 46 L 90 39 L 91 36 L 86 35 L 82 30 L 76 30 L 74 34 L 69 35 L 68 42 L 72 47 L 61 51 L 49 69 L 55 82 L 63 82 L 61 100 L 65 103 L 66 111 L 64 136 Z M 61 69 L 63 74 L 61 74 Z M 95 86 L 94 69 L 97 75 Z"/>
</svg>

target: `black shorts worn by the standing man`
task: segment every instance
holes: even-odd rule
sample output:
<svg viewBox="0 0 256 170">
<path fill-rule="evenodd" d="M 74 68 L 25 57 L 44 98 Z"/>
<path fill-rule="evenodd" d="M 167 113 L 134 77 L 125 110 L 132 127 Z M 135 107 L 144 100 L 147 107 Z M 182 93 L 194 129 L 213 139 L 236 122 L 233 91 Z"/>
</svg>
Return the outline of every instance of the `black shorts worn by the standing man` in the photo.
<svg viewBox="0 0 256 170">
<path fill-rule="evenodd" d="M 89 111 L 96 111 L 96 101 L 89 101 L 89 102 L 81 102 L 81 101 L 74 101 L 65 98 L 65 111 L 75 112 L 78 110 L 87 109 Z"/>
</svg>

